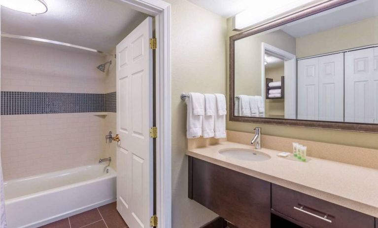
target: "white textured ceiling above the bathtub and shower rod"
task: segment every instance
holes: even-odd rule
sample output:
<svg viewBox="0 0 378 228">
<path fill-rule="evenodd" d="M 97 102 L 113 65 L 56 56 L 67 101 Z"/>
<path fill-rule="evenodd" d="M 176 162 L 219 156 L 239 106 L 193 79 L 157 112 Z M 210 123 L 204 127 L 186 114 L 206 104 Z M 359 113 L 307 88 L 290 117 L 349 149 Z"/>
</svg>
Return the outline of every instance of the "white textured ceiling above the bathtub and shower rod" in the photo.
<svg viewBox="0 0 378 228">
<path fill-rule="evenodd" d="M 52 39 L 110 52 L 147 15 L 112 0 L 45 0 L 32 16 L 1 6 L 1 32 Z"/>
</svg>

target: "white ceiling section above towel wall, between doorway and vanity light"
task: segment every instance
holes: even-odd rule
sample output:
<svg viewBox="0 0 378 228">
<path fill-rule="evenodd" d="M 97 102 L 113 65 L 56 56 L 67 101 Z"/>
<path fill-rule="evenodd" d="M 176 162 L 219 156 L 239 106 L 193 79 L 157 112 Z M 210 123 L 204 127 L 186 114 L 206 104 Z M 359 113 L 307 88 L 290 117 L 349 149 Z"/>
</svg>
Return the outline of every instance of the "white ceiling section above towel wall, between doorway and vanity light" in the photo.
<svg viewBox="0 0 378 228">
<path fill-rule="evenodd" d="M 189 0 L 192 3 L 223 17 L 231 17 L 246 9 L 253 0 Z"/>
</svg>

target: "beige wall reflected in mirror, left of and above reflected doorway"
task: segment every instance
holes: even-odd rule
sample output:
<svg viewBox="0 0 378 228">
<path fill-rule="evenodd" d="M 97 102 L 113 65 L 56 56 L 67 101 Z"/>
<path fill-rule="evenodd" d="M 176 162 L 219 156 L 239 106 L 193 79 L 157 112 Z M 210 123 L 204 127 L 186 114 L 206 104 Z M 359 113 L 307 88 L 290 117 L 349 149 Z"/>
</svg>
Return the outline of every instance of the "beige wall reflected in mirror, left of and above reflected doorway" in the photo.
<svg viewBox="0 0 378 228">
<path fill-rule="evenodd" d="M 228 28 L 231 28 L 228 19 Z M 230 31 L 229 31 L 230 35 Z M 295 53 L 295 38 L 282 31 L 251 36 L 235 42 L 235 94 L 261 96 L 261 43 Z"/>
</svg>

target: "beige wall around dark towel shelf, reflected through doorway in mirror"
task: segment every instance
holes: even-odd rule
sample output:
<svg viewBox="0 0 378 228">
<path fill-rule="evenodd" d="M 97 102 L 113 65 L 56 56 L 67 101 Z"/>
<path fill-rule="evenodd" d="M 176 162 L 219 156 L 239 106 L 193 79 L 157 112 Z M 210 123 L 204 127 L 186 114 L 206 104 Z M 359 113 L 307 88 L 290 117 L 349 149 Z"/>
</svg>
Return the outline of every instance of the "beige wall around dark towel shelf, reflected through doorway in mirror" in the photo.
<svg viewBox="0 0 378 228">
<path fill-rule="evenodd" d="M 281 66 L 275 68 L 266 68 L 265 77 L 273 78 L 273 81 L 280 81 L 281 76 L 284 75 L 285 66 L 282 62 Z M 284 99 L 265 99 L 265 116 L 269 115 L 285 115 L 285 101 Z"/>
</svg>

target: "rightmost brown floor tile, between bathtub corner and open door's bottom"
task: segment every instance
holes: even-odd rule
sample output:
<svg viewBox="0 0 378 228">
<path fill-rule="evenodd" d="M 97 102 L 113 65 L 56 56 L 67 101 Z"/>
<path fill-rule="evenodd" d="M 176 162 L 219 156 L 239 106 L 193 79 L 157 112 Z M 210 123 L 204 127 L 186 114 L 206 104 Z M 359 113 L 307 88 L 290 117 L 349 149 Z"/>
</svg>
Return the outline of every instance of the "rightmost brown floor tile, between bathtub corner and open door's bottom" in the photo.
<svg viewBox="0 0 378 228">
<path fill-rule="evenodd" d="M 123 221 L 121 215 L 117 211 L 117 202 L 103 205 L 102 207 L 99 207 L 99 211 L 108 228 L 127 227 L 125 221 Z"/>
</svg>

